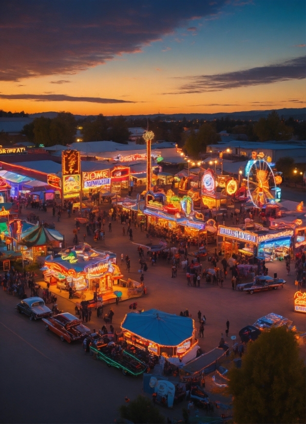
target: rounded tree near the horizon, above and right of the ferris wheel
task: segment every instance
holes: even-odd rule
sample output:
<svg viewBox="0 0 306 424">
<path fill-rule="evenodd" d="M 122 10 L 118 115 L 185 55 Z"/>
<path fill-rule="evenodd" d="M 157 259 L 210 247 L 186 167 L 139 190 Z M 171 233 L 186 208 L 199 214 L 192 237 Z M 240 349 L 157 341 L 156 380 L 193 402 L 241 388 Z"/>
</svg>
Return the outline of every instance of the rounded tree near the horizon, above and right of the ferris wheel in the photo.
<svg viewBox="0 0 306 424">
<path fill-rule="evenodd" d="M 292 137 L 293 128 L 281 122 L 278 113 L 273 110 L 267 118 L 260 118 L 254 125 L 254 133 L 260 141 L 289 140 Z"/>
</svg>

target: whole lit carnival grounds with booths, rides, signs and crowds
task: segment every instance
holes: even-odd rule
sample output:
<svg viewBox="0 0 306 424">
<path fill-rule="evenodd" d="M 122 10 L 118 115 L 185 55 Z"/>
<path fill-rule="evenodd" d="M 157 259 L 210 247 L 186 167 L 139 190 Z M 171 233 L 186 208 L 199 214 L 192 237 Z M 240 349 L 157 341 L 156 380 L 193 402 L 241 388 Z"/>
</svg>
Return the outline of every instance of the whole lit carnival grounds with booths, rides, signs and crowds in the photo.
<svg viewBox="0 0 306 424">
<path fill-rule="evenodd" d="M 170 422 L 182 406 L 222 422 L 232 399 L 219 389 L 250 343 L 276 326 L 306 340 L 306 209 L 282 201 L 260 151 L 238 178 L 187 157 L 170 175 L 144 139 L 138 174 L 131 155 L 84 170 L 68 148 L 54 174 L 6 164 L 1 297 L 47 356 L 83 352 L 89 379 L 116 380 L 118 404 L 143 393 Z"/>
</svg>

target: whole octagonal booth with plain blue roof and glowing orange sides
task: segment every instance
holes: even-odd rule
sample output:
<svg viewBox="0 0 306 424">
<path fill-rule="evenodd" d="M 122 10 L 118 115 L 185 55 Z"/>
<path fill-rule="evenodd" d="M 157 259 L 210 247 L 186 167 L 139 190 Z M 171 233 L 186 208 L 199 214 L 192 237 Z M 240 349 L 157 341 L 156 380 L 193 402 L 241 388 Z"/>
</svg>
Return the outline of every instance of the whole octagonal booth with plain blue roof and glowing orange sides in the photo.
<svg viewBox="0 0 306 424">
<path fill-rule="evenodd" d="M 121 328 L 127 343 L 147 349 L 154 355 L 183 358 L 195 348 L 196 356 L 197 341 L 192 318 L 150 309 L 140 314 L 126 314 Z"/>
</svg>

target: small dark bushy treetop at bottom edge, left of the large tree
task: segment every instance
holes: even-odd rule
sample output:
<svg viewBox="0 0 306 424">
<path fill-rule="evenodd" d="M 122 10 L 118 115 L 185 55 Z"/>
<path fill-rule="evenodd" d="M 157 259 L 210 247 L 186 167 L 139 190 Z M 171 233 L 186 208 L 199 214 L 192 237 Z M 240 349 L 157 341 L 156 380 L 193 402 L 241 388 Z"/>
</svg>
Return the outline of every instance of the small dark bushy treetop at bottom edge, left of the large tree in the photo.
<svg viewBox="0 0 306 424">
<path fill-rule="evenodd" d="M 159 412 L 158 408 L 152 404 L 147 397 L 139 395 L 127 405 L 119 407 L 121 418 L 128 419 L 135 424 L 162 424 L 165 422 L 164 416 Z"/>
</svg>

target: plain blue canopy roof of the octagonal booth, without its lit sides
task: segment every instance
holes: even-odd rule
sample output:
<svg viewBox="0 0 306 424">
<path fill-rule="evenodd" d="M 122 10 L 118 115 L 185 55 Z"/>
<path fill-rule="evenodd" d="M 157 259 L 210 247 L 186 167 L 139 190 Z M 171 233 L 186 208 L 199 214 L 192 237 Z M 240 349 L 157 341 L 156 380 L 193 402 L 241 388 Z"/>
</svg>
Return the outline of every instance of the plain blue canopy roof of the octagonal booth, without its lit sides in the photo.
<svg viewBox="0 0 306 424">
<path fill-rule="evenodd" d="M 126 315 L 122 329 L 163 346 L 178 346 L 193 336 L 192 318 L 181 317 L 157 309 Z"/>
</svg>

